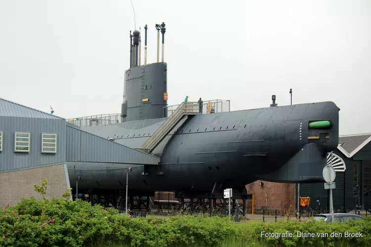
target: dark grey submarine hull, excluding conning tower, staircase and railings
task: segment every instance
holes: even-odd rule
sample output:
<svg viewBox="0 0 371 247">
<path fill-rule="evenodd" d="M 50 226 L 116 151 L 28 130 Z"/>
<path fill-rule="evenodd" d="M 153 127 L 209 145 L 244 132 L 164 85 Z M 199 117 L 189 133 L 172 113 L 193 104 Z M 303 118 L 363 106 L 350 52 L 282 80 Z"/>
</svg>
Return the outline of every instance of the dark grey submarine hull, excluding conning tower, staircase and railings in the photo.
<svg viewBox="0 0 371 247">
<path fill-rule="evenodd" d="M 166 145 L 154 150 L 161 157 L 159 165 L 129 165 L 128 190 L 210 193 L 259 179 L 322 182 L 326 154 L 338 145 L 338 111 L 333 102 L 319 102 L 192 116 L 167 135 Z M 164 121 L 141 128 L 135 127 L 140 123 L 127 122 L 84 130 L 104 138 L 115 134 L 123 137 L 115 141 L 138 148 Z M 331 126 L 310 129 L 313 121 L 329 121 Z M 129 137 L 133 133 L 137 138 Z M 81 176 L 79 189 L 126 189 L 125 167 L 67 166 L 73 188 Z"/>
</svg>

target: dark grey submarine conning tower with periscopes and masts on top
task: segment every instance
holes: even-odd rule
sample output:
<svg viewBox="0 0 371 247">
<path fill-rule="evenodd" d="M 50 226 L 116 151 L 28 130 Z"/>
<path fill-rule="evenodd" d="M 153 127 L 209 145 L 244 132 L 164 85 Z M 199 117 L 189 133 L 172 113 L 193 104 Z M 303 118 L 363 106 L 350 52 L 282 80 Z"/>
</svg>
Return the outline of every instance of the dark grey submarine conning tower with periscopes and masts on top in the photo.
<svg viewBox="0 0 371 247">
<path fill-rule="evenodd" d="M 165 23 L 156 24 L 157 62 L 147 64 L 147 25 L 144 26 L 144 65 L 140 64 L 140 32 L 130 31 L 130 68 L 125 71 L 122 122 L 167 117 L 167 64 L 164 62 Z M 140 30 L 140 29 L 139 29 Z M 160 31 L 162 57 L 160 55 Z"/>
</svg>

